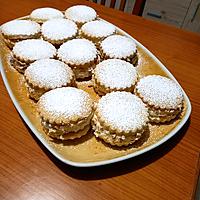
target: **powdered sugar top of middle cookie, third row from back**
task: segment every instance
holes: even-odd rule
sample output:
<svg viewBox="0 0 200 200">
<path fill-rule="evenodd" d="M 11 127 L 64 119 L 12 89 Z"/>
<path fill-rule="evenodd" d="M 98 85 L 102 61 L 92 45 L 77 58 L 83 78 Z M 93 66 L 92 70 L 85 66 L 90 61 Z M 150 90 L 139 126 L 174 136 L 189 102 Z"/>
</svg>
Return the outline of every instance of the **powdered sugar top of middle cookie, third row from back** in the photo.
<svg viewBox="0 0 200 200">
<path fill-rule="evenodd" d="M 58 57 L 67 64 L 85 64 L 97 56 L 95 45 L 87 39 L 73 39 L 58 49 Z"/>
</svg>

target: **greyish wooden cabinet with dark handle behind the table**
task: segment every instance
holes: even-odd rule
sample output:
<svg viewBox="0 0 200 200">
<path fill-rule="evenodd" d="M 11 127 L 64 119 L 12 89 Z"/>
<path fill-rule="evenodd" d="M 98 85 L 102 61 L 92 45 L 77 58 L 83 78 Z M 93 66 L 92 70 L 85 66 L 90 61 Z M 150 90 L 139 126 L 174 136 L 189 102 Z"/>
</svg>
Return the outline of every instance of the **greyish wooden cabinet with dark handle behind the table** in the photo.
<svg viewBox="0 0 200 200">
<path fill-rule="evenodd" d="M 143 17 L 200 32 L 200 0 L 147 0 Z"/>
</svg>

